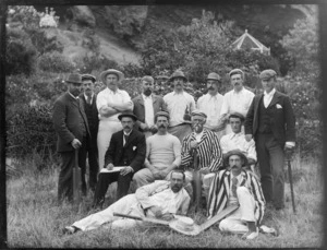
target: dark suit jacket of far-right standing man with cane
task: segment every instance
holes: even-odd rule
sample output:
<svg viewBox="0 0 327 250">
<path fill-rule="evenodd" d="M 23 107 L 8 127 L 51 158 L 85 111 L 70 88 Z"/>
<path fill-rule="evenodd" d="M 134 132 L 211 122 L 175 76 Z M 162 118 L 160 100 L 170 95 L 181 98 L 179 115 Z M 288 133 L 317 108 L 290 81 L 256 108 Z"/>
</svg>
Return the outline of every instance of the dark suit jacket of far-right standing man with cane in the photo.
<svg viewBox="0 0 327 250">
<path fill-rule="evenodd" d="M 244 123 L 245 134 L 252 134 L 254 139 L 258 132 L 259 103 L 263 96 L 264 94 L 259 94 L 253 98 Z M 270 128 L 277 141 L 280 144 L 295 142 L 295 118 L 290 98 L 276 91 L 268 108 L 272 114 L 269 120 Z"/>
</svg>

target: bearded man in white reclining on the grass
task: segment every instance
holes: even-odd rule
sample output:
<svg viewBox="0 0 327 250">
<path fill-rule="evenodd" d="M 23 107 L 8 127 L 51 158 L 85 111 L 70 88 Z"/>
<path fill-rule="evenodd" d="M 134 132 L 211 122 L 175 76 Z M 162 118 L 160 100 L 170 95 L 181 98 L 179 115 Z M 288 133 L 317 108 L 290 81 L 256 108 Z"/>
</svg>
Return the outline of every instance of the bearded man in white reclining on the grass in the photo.
<svg viewBox="0 0 327 250">
<path fill-rule="evenodd" d="M 172 170 L 170 181 L 157 180 L 143 186 L 135 193 L 121 198 L 106 210 L 92 214 L 64 228 L 65 234 L 78 230 L 92 230 L 106 223 L 112 228 L 131 228 L 141 223 L 131 218 L 113 216 L 123 213 L 134 216 L 148 216 L 170 221 L 175 214 L 185 215 L 190 205 L 190 195 L 184 190 L 185 175 L 181 170 Z"/>
</svg>

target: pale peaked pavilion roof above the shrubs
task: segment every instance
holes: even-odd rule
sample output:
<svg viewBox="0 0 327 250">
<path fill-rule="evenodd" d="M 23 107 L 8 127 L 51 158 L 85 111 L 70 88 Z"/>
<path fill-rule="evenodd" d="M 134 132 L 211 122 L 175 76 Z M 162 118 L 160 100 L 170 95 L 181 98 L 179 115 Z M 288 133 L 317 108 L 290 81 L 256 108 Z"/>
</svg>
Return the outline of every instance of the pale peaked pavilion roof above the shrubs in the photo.
<svg viewBox="0 0 327 250">
<path fill-rule="evenodd" d="M 270 56 L 270 48 L 267 48 L 261 41 L 250 35 L 247 33 L 247 29 L 245 29 L 245 33 L 241 37 L 239 37 L 234 43 L 231 44 L 231 47 L 233 49 L 250 49 L 254 51 L 258 50 L 261 51 L 261 53 Z"/>
</svg>

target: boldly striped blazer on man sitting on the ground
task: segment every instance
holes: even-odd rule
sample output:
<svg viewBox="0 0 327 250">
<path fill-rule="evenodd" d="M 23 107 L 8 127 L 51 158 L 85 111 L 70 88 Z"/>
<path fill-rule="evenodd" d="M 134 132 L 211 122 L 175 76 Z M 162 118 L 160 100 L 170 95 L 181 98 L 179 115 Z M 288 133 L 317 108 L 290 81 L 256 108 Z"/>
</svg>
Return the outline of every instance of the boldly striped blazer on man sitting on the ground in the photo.
<svg viewBox="0 0 327 250">
<path fill-rule="evenodd" d="M 257 225 L 262 222 L 265 211 L 265 198 L 263 194 L 262 186 L 252 171 L 242 170 L 242 181 L 240 186 L 246 187 L 255 200 L 254 215 Z M 211 181 L 208 203 L 207 203 L 207 216 L 211 217 L 218 214 L 227 206 L 227 202 L 230 195 L 231 187 L 231 172 L 230 170 L 220 170 L 216 174 Z"/>
</svg>

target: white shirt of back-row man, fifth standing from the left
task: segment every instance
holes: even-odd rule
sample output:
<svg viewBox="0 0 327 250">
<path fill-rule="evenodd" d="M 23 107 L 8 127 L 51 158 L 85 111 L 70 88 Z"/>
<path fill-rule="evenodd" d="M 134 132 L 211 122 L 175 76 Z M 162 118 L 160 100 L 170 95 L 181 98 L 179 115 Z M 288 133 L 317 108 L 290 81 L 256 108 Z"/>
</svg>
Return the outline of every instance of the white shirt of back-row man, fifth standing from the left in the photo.
<svg viewBox="0 0 327 250">
<path fill-rule="evenodd" d="M 184 122 L 185 109 L 189 108 L 191 114 L 195 109 L 195 100 L 192 95 L 186 92 L 171 92 L 164 96 L 167 109 L 170 115 L 170 127 L 174 127 Z"/>
</svg>

